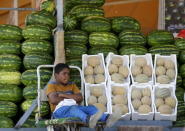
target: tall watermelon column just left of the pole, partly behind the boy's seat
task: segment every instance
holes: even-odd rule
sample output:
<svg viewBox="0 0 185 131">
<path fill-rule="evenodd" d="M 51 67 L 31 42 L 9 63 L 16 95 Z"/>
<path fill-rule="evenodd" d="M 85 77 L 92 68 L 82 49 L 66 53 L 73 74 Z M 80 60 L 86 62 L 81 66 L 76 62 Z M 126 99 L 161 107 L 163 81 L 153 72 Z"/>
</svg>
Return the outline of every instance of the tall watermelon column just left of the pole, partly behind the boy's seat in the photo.
<svg viewBox="0 0 185 131">
<path fill-rule="evenodd" d="M 47 3 L 51 8 L 47 8 Z M 44 2 L 42 10 L 33 12 L 26 17 L 26 27 L 23 29 L 25 41 L 22 43 L 22 53 L 24 54 L 23 65 L 25 71 L 22 73 L 21 82 L 24 84 L 23 97 L 25 100 L 21 104 L 21 109 L 25 112 L 32 105 L 37 97 L 37 67 L 39 65 L 53 64 L 53 35 L 52 30 L 56 27 L 56 18 L 53 16 L 53 2 Z M 41 69 L 41 88 L 43 88 L 51 78 L 52 70 Z M 48 102 L 41 103 L 41 115 L 49 114 Z M 34 127 L 34 110 L 31 117 L 23 127 Z"/>
</svg>

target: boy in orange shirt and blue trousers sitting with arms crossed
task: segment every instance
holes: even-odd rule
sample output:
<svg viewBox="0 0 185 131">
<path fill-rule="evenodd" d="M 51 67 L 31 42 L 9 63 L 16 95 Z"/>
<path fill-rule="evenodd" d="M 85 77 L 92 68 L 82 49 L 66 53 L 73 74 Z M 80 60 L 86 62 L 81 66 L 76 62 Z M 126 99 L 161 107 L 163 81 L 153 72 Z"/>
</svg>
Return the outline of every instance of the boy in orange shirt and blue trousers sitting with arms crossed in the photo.
<svg viewBox="0 0 185 131">
<path fill-rule="evenodd" d="M 70 68 L 67 64 L 59 63 L 54 68 L 56 81 L 51 81 L 46 90 L 51 111 L 54 118 L 78 117 L 83 122 L 88 122 L 90 128 L 94 128 L 98 120 L 106 121 L 106 126 L 112 126 L 121 116 L 116 114 L 104 114 L 95 106 L 80 106 L 82 94 L 78 87 L 69 82 Z"/>
</svg>

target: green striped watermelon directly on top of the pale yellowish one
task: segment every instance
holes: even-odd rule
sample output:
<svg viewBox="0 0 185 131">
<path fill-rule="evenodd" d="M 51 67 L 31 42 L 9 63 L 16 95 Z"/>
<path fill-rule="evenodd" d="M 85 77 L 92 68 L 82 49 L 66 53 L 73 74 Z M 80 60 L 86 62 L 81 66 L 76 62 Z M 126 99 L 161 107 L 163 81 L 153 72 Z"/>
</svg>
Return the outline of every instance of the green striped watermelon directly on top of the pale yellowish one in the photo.
<svg viewBox="0 0 185 131">
<path fill-rule="evenodd" d="M 17 55 L 3 54 L 0 55 L 0 69 L 1 70 L 19 70 L 22 60 Z"/>
</svg>

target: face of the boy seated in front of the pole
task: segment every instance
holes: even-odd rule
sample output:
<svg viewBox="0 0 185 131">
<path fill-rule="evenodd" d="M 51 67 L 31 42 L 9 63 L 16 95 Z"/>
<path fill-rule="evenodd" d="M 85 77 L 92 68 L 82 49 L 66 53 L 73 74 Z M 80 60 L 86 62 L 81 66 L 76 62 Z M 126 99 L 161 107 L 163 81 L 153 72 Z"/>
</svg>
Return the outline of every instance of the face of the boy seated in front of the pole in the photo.
<svg viewBox="0 0 185 131">
<path fill-rule="evenodd" d="M 59 73 L 55 73 L 56 81 L 61 84 L 67 84 L 70 79 L 70 71 L 68 68 L 64 68 Z"/>
</svg>

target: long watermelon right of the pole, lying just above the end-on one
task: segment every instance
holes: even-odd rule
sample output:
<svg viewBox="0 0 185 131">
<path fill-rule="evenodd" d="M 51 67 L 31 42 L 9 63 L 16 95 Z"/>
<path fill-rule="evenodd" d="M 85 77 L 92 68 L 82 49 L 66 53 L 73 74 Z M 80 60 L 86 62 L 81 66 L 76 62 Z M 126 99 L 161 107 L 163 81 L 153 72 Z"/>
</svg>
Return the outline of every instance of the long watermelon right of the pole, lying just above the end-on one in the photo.
<svg viewBox="0 0 185 131">
<path fill-rule="evenodd" d="M 92 5 L 77 5 L 70 10 L 69 14 L 74 15 L 78 20 L 82 20 L 87 16 L 104 16 L 104 11 Z"/>
</svg>

